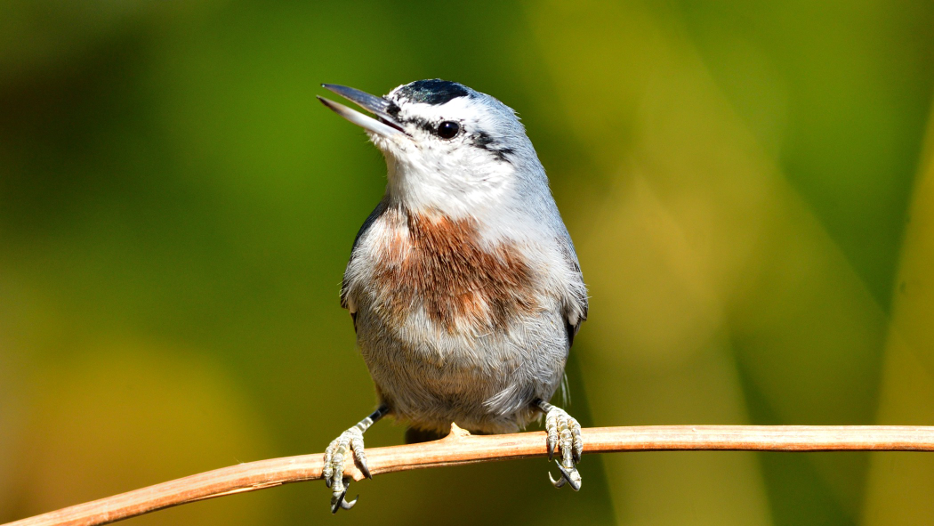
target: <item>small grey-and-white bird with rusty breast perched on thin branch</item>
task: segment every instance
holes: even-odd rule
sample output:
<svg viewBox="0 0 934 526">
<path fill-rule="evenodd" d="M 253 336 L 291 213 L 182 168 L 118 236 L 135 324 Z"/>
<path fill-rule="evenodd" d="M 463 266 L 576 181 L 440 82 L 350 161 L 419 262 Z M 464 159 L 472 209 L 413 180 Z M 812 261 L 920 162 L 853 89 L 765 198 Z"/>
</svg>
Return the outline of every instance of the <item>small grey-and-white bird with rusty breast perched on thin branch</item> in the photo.
<svg viewBox="0 0 934 526">
<path fill-rule="evenodd" d="M 512 433 L 544 413 L 549 459 L 560 453 L 561 476 L 548 477 L 579 490 L 580 424 L 548 401 L 587 318 L 587 288 L 516 112 L 441 79 L 385 97 L 322 87 L 374 116 L 318 97 L 366 131 L 389 169 L 341 288 L 379 406 L 325 451 L 332 512 L 357 502 L 345 498 L 348 454 L 372 478 L 363 433 L 387 415 L 413 438 L 452 422 Z"/>
</svg>

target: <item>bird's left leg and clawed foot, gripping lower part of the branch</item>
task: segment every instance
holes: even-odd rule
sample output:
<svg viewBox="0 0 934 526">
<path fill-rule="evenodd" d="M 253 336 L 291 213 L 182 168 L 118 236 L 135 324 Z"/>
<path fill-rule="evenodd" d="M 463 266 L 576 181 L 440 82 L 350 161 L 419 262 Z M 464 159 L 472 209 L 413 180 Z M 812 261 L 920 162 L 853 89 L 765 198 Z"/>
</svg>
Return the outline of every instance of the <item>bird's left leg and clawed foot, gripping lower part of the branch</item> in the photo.
<svg viewBox="0 0 934 526">
<path fill-rule="evenodd" d="M 389 413 L 389 406 L 380 405 L 372 415 L 362 419 L 357 425 L 333 439 L 328 448 L 324 450 L 324 469 L 321 470 L 321 476 L 324 477 L 324 483 L 328 488 L 333 490 L 331 513 L 337 513 L 337 510 L 341 508 L 350 509 L 357 504 L 357 499 L 348 503 L 344 498 L 350 486 L 350 477 L 344 476 L 344 459 L 347 458 L 348 450 L 353 452 L 363 475 L 373 478 L 366 465 L 366 453 L 363 452 L 363 432 L 369 429 L 376 420 L 385 417 L 387 413 Z"/>
</svg>

